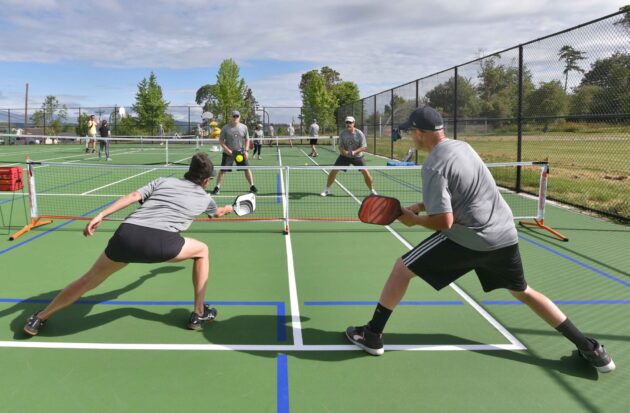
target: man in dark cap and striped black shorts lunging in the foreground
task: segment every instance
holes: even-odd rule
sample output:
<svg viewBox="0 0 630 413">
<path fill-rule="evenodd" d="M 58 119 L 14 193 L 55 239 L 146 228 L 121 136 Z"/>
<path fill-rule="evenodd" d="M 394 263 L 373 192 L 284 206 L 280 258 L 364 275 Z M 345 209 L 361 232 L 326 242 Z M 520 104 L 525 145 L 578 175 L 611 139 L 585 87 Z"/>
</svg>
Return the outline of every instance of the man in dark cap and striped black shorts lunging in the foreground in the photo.
<svg viewBox="0 0 630 413">
<path fill-rule="evenodd" d="M 429 156 L 421 172 L 423 202 L 403 208 L 399 220 L 436 232 L 396 261 L 372 320 L 348 327 L 348 340 L 370 354 L 383 354 L 383 329 L 412 278 L 440 290 L 474 270 L 484 291 L 507 289 L 573 342 L 598 371 L 614 370 L 601 344 L 584 336 L 551 300 L 527 285 L 512 211 L 479 155 L 466 142 L 447 139 L 442 116 L 430 107 L 413 111 L 400 129 L 409 130 L 416 148 L 426 149 Z"/>
</svg>

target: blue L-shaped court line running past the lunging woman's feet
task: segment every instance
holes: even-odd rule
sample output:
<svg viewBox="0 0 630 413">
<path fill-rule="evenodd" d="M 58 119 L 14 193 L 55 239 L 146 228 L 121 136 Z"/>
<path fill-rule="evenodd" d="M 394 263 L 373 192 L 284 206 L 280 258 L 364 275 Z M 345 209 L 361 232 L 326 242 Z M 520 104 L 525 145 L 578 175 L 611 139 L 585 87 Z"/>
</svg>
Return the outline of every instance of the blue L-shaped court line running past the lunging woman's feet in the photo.
<svg viewBox="0 0 630 413">
<path fill-rule="evenodd" d="M 48 304 L 50 299 L 22 299 L 22 298 L 0 298 L 0 303 L 27 303 L 27 304 Z M 286 316 L 286 306 L 283 301 L 206 301 L 210 305 L 231 305 L 231 306 L 275 306 L 276 307 L 276 338 L 278 341 L 287 340 L 287 331 L 284 326 Z M 164 305 L 179 306 L 193 305 L 194 301 L 129 301 L 129 300 L 77 300 L 75 304 L 92 305 Z"/>
</svg>

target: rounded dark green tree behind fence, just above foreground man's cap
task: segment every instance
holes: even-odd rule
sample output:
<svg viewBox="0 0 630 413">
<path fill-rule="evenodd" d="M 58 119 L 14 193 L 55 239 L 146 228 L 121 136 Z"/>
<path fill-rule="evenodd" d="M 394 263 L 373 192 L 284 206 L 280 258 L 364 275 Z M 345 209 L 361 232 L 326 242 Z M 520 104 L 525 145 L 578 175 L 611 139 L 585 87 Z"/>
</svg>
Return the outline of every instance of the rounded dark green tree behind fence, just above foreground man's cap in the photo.
<svg viewBox="0 0 630 413">
<path fill-rule="evenodd" d="M 452 77 L 444 83 L 440 83 L 426 94 L 426 103 L 445 114 L 455 113 L 454 107 L 455 78 Z M 474 117 L 479 115 L 481 102 L 477 97 L 477 91 L 470 79 L 457 77 L 457 115 L 461 117 Z"/>
</svg>

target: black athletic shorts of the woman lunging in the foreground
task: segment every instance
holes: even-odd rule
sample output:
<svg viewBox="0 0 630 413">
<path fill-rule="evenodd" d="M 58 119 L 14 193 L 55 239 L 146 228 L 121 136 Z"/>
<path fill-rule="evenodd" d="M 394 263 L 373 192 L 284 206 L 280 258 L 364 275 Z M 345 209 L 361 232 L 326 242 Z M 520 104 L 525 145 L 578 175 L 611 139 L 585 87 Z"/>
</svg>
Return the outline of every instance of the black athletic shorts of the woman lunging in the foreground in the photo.
<svg viewBox="0 0 630 413">
<path fill-rule="evenodd" d="M 184 242 L 179 232 L 121 224 L 109 239 L 105 255 L 117 262 L 166 262 L 179 255 Z"/>
</svg>

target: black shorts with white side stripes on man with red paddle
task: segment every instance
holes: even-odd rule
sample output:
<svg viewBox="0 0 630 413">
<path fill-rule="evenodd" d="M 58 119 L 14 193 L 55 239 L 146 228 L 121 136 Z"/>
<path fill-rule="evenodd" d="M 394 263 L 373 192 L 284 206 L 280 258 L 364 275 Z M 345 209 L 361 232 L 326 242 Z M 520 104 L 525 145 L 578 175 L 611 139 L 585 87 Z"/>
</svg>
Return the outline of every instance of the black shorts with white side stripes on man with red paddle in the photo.
<svg viewBox="0 0 630 413">
<path fill-rule="evenodd" d="M 485 292 L 527 288 L 518 244 L 493 251 L 463 247 L 436 232 L 402 256 L 403 264 L 436 290 L 475 270 Z"/>
</svg>

